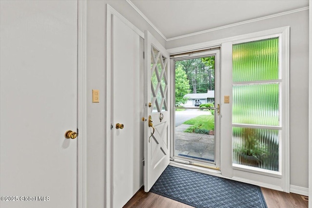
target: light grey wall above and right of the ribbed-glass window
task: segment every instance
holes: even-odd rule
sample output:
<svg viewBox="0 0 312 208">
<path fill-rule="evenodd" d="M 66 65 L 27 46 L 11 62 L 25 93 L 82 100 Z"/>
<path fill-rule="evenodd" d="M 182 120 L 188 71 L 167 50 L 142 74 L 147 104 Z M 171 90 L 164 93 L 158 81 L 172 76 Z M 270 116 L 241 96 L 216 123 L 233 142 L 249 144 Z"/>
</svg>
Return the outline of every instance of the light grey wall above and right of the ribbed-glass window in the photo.
<svg viewBox="0 0 312 208">
<path fill-rule="evenodd" d="M 309 11 L 265 19 L 167 42 L 167 49 L 290 26 L 291 185 L 308 188 Z"/>
</svg>

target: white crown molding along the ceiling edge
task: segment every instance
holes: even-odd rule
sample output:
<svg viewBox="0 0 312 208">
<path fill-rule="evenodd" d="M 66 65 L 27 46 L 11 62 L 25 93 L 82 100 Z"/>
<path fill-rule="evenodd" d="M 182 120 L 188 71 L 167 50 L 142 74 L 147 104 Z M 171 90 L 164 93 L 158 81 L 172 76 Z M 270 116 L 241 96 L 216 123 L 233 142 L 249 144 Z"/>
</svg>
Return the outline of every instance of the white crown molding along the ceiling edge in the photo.
<svg viewBox="0 0 312 208">
<path fill-rule="evenodd" d="M 132 6 L 136 11 L 137 13 L 143 18 L 145 19 L 145 21 L 147 21 L 155 30 L 156 32 L 162 37 L 164 38 L 166 41 L 171 41 L 171 40 L 175 40 L 175 39 L 180 39 L 180 38 L 187 38 L 187 37 L 191 37 L 191 36 L 196 36 L 196 35 L 200 35 L 200 34 L 204 34 L 204 33 L 209 33 L 209 32 L 212 32 L 212 31 L 215 31 L 215 30 L 221 30 L 221 29 L 225 29 L 225 28 L 229 28 L 229 27 L 234 27 L 234 26 L 238 26 L 238 25 L 242 25 L 242 24 L 248 24 L 248 23 L 251 23 L 251 22 L 255 22 L 255 21 L 261 21 L 261 20 L 264 20 L 264 19 L 271 19 L 271 18 L 276 18 L 276 17 L 280 17 L 280 16 L 283 16 L 283 15 L 289 15 L 289 14 L 292 14 L 292 13 L 296 13 L 296 12 L 301 12 L 301 11 L 305 11 L 305 10 L 309 10 L 309 6 L 306 6 L 306 7 L 302 7 L 302 8 L 299 8 L 299 9 L 294 9 L 294 10 L 290 10 L 290 11 L 287 11 L 287 12 L 281 12 L 281 13 L 277 13 L 277 14 L 274 14 L 274 15 L 269 15 L 269 16 L 265 16 L 265 17 L 262 17 L 262 18 L 256 18 L 256 19 L 250 19 L 250 20 L 246 20 L 246 21 L 241 21 L 241 22 L 237 22 L 237 23 L 234 23 L 234 24 L 228 24 L 228 25 L 224 25 L 224 26 L 221 26 L 221 27 L 215 27 L 215 28 L 212 28 L 212 29 L 209 29 L 209 30 L 203 30 L 203 31 L 200 31 L 200 32 L 196 32 L 196 33 L 190 33 L 190 34 L 187 34 L 187 35 L 183 35 L 183 36 L 177 36 L 177 37 L 174 37 L 174 38 L 166 38 L 159 30 L 158 28 L 136 7 L 136 5 L 134 5 L 134 3 L 131 2 L 131 0 L 126 0 L 130 6 Z"/>
</svg>

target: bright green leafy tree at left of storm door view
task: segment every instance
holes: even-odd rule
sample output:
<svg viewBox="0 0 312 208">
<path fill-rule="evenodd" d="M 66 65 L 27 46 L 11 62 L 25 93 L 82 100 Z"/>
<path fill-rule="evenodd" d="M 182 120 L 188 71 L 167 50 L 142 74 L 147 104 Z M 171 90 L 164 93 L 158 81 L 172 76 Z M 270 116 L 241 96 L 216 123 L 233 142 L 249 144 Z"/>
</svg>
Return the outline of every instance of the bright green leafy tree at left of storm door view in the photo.
<svg viewBox="0 0 312 208">
<path fill-rule="evenodd" d="M 184 95 L 190 93 L 189 80 L 181 66 L 176 67 L 176 106 L 185 104 L 188 98 Z"/>
</svg>

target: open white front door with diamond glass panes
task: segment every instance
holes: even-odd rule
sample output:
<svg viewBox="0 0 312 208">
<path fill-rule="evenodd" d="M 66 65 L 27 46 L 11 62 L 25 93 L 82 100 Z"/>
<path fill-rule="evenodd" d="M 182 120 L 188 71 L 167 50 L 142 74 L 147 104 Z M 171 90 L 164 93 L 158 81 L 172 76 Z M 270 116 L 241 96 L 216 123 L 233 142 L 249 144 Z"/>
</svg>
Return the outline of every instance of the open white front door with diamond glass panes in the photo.
<svg viewBox="0 0 312 208">
<path fill-rule="evenodd" d="M 169 164 L 169 53 L 148 31 L 144 35 L 145 126 L 144 190 L 148 192 Z"/>
</svg>

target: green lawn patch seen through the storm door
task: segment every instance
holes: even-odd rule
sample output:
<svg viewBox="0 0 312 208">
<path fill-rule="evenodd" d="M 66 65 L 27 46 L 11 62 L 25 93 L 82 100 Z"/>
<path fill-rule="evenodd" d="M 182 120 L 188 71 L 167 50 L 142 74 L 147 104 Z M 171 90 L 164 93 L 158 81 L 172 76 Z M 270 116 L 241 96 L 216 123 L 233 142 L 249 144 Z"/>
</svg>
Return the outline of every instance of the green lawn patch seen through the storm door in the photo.
<svg viewBox="0 0 312 208">
<path fill-rule="evenodd" d="M 215 130 L 214 115 L 199 115 L 195 118 L 185 121 L 183 124 L 193 125 L 185 130 L 185 132 L 195 132 L 196 130 Z"/>
</svg>

